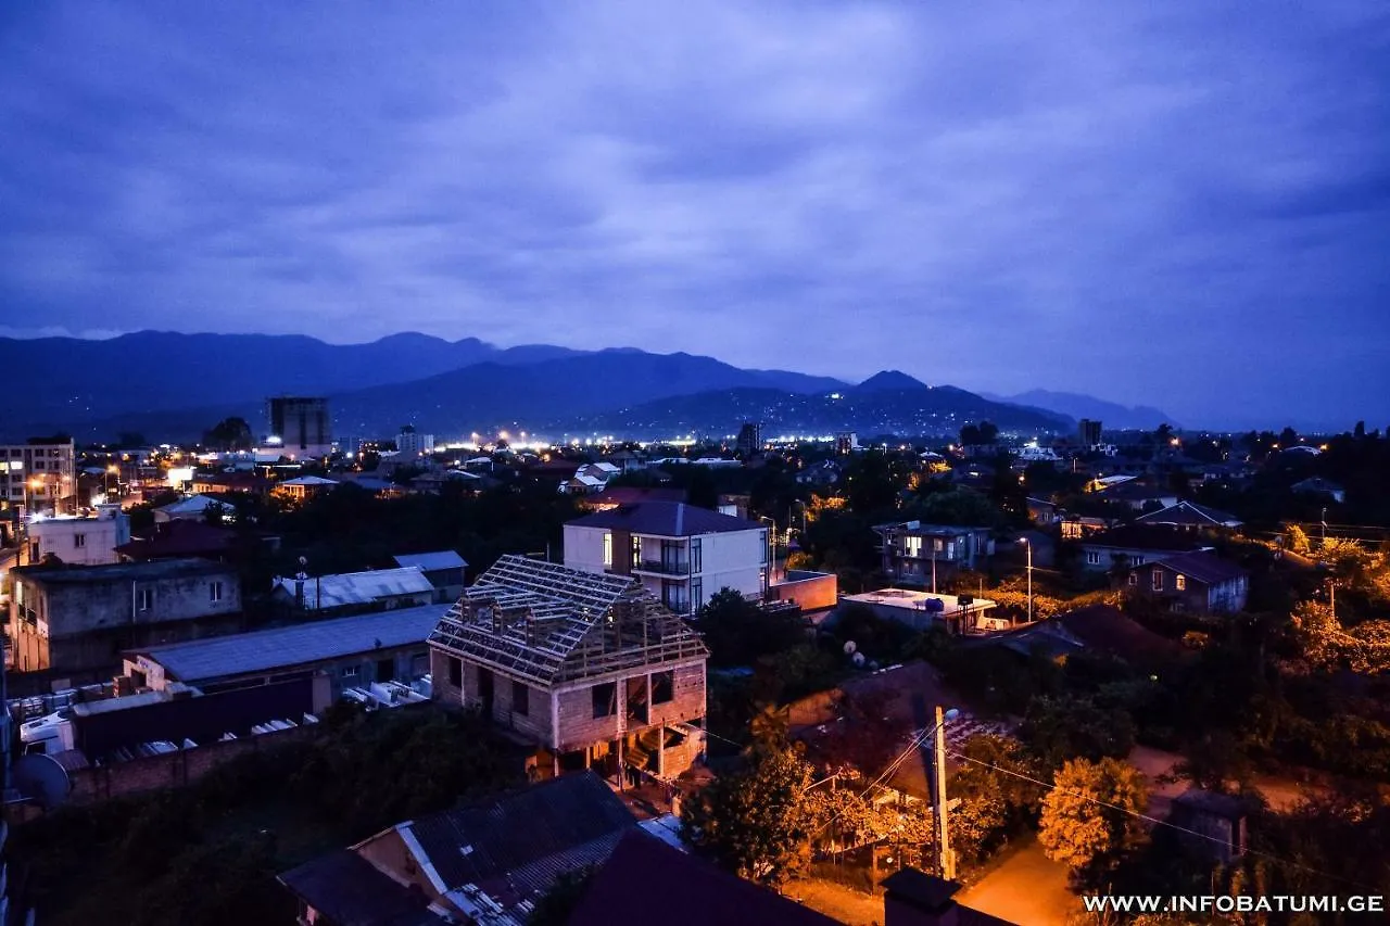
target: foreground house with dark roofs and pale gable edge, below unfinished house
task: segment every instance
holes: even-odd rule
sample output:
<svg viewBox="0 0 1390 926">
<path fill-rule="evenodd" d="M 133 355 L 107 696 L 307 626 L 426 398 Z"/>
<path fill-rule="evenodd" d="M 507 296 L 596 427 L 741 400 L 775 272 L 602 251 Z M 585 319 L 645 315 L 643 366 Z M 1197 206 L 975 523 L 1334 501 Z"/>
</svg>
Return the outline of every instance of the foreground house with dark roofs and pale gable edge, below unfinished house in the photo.
<svg viewBox="0 0 1390 926">
<path fill-rule="evenodd" d="M 306 923 L 523 926 L 560 877 L 602 865 L 630 833 L 641 830 L 627 805 L 581 773 L 406 820 L 279 880 Z"/>
</svg>

